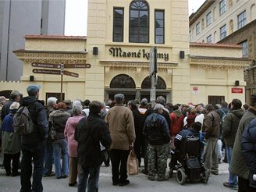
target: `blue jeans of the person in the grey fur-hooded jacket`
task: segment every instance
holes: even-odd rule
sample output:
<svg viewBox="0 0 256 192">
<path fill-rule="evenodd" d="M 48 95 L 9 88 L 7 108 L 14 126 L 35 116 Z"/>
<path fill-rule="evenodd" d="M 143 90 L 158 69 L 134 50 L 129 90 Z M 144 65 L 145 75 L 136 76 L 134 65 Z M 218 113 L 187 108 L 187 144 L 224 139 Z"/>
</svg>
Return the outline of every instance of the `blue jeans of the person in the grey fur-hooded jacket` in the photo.
<svg viewBox="0 0 256 192">
<path fill-rule="evenodd" d="M 62 176 L 69 175 L 69 155 L 68 155 L 68 143 L 66 138 L 55 140 L 52 143 L 54 165 L 55 165 L 55 175 L 59 179 Z M 60 158 L 62 155 L 62 165 Z"/>
</svg>

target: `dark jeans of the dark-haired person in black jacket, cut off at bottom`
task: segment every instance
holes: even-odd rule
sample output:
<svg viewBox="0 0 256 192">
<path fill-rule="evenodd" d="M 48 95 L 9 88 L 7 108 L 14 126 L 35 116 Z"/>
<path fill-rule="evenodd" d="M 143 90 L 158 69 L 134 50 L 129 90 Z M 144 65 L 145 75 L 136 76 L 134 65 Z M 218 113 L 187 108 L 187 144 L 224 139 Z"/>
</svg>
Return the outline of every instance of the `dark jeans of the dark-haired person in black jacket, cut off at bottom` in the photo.
<svg viewBox="0 0 256 192">
<path fill-rule="evenodd" d="M 90 175 L 90 176 L 89 176 Z M 89 180 L 88 180 L 89 176 Z M 94 168 L 83 168 L 79 175 L 77 192 L 85 192 L 88 182 L 87 192 L 98 192 L 98 180 L 100 176 L 100 166 Z"/>
</svg>

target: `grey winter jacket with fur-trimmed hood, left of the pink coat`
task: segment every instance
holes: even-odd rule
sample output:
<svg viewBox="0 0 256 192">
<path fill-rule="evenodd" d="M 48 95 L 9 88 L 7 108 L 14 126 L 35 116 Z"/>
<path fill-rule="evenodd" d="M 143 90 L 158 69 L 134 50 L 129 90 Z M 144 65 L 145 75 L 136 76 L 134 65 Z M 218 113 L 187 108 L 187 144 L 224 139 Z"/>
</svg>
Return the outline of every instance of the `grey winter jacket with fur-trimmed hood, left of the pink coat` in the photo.
<svg viewBox="0 0 256 192">
<path fill-rule="evenodd" d="M 64 138 L 64 130 L 66 121 L 69 119 L 70 114 L 63 109 L 59 109 L 51 112 L 49 116 L 49 122 L 52 124 L 52 130 L 55 130 L 55 139 Z"/>
</svg>

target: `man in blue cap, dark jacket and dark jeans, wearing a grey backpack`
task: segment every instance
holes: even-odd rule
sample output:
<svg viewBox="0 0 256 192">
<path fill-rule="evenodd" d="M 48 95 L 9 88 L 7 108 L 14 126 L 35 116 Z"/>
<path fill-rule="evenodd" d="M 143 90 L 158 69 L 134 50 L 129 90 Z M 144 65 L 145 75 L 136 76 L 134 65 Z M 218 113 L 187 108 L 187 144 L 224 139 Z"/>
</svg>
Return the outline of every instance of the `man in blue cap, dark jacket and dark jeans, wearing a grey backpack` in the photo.
<svg viewBox="0 0 256 192">
<path fill-rule="evenodd" d="M 21 136 L 22 153 L 20 192 L 43 191 L 41 183 L 43 176 L 45 138 L 48 133 L 48 119 L 44 110 L 44 105 L 39 98 L 40 86 L 30 85 L 27 87 L 28 97 L 22 98 L 22 105 L 27 106 L 34 130 L 32 133 Z M 34 162 L 33 183 L 31 186 L 30 178 L 32 176 L 32 159 Z"/>
</svg>

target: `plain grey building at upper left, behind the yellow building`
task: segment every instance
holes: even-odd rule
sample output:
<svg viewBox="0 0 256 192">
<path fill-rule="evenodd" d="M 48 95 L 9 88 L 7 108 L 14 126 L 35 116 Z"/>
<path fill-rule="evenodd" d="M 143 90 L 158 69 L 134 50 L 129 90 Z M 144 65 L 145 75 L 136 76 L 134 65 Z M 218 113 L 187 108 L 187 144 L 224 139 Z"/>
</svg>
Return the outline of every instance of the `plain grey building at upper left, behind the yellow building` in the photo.
<svg viewBox="0 0 256 192">
<path fill-rule="evenodd" d="M 0 1 L 0 80 L 20 80 L 25 34 L 64 34 L 66 0 Z"/>
</svg>

